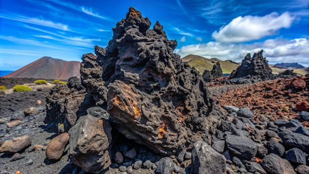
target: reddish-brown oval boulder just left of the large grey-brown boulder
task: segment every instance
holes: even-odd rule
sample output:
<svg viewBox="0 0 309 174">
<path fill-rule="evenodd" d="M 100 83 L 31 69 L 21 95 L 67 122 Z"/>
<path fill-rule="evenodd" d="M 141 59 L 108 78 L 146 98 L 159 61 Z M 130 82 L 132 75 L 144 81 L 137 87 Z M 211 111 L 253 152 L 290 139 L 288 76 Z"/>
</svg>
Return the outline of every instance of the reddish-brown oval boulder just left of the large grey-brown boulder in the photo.
<svg viewBox="0 0 309 174">
<path fill-rule="evenodd" d="M 70 139 L 69 133 L 61 133 L 49 142 L 46 148 L 46 157 L 49 160 L 59 160 L 62 157 L 66 144 Z"/>
</svg>

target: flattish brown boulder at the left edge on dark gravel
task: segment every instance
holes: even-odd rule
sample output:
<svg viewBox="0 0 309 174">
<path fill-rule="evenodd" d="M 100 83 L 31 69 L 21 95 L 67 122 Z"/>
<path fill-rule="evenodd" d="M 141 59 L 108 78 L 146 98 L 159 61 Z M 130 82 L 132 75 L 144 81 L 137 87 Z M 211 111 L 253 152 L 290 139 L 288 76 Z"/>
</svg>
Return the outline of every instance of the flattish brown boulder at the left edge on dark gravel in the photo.
<svg viewBox="0 0 309 174">
<path fill-rule="evenodd" d="M 0 146 L 0 153 L 17 153 L 31 145 L 31 139 L 28 135 L 6 140 Z"/>
</svg>

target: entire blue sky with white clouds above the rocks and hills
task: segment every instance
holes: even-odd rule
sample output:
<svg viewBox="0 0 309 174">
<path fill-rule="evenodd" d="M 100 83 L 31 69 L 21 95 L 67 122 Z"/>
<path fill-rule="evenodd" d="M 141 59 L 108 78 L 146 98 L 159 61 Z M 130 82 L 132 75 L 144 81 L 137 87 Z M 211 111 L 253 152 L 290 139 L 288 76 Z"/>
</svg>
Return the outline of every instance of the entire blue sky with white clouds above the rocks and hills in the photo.
<svg viewBox="0 0 309 174">
<path fill-rule="evenodd" d="M 0 70 L 42 56 L 81 61 L 130 6 L 159 21 L 182 57 L 240 62 L 264 49 L 269 63 L 309 66 L 309 0 L 1 0 Z"/>
</svg>

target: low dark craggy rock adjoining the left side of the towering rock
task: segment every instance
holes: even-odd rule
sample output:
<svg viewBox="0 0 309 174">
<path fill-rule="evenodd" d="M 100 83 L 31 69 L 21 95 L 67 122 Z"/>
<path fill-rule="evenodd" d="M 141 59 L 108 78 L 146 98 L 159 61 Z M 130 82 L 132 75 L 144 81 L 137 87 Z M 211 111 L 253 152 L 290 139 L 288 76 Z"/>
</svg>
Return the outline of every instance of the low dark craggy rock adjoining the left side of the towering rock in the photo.
<svg viewBox="0 0 309 174">
<path fill-rule="evenodd" d="M 86 110 L 95 106 L 92 96 L 81 86 L 80 79 L 71 77 L 67 85 L 56 85 L 46 97 L 46 118 L 44 123 L 63 125 L 62 131 L 69 131 L 77 118 L 86 115 Z M 61 127 L 61 126 L 60 126 Z"/>
</svg>

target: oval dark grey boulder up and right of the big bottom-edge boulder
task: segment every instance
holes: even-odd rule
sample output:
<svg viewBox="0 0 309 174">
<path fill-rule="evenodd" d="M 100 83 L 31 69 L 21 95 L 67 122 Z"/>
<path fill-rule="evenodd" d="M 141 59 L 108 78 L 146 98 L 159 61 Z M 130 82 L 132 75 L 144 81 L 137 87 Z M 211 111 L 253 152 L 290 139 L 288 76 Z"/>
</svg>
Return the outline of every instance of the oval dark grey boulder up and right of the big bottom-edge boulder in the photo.
<svg viewBox="0 0 309 174">
<path fill-rule="evenodd" d="M 226 144 L 228 149 L 236 156 L 251 159 L 257 154 L 257 145 L 245 136 L 227 135 Z"/>
</svg>

